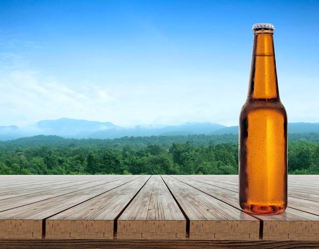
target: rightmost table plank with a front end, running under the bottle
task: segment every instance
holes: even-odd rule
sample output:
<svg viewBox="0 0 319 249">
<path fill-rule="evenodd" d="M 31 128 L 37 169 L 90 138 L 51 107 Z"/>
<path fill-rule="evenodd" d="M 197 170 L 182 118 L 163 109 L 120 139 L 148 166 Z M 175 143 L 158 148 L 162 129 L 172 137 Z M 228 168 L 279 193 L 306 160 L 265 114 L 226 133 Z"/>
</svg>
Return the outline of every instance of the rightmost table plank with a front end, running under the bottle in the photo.
<svg viewBox="0 0 319 249">
<path fill-rule="evenodd" d="M 208 183 L 201 182 L 202 178 L 197 176 L 186 176 L 176 178 L 187 181 L 192 186 L 198 188 L 208 195 L 214 196 L 223 202 L 240 208 L 238 196 L 234 195 L 235 191 L 225 188 L 216 187 Z M 184 180 L 183 180 L 184 179 Z M 197 179 L 197 180 L 196 180 Z M 207 178 L 205 179 L 207 182 Z M 234 188 L 232 188 L 234 189 Z M 223 195 L 219 195 L 219 192 Z M 228 192 L 229 195 L 224 195 Z M 262 239 L 265 240 L 319 240 L 319 215 L 307 213 L 294 208 L 288 207 L 283 213 L 276 215 L 255 215 L 262 222 Z"/>
</svg>

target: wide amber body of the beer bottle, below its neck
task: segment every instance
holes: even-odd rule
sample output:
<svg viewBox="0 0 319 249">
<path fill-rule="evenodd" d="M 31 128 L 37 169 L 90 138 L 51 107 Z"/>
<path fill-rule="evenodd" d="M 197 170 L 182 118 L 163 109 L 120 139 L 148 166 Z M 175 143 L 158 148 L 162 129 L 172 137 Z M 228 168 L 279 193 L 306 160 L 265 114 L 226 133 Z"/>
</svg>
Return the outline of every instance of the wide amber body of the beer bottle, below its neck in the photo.
<svg viewBox="0 0 319 249">
<path fill-rule="evenodd" d="M 257 214 L 275 214 L 287 206 L 287 130 L 278 103 L 255 102 L 241 116 L 240 205 Z"/>
</svg>

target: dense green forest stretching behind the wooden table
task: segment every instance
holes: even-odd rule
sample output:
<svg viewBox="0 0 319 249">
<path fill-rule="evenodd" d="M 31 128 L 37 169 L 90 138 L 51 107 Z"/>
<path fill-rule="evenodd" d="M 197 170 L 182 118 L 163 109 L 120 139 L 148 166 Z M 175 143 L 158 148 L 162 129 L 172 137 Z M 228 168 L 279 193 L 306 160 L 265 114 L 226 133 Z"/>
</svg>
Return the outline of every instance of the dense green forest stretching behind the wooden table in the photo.
<svg viewBox="0 0 319 249">
<path fill-rule="evenodd" d="M 319 134 L 289 134 L 288 174 L 319 174 Z M 238 174 L 238 135 L 0 141 L 0 174 Z"/>
</svg>

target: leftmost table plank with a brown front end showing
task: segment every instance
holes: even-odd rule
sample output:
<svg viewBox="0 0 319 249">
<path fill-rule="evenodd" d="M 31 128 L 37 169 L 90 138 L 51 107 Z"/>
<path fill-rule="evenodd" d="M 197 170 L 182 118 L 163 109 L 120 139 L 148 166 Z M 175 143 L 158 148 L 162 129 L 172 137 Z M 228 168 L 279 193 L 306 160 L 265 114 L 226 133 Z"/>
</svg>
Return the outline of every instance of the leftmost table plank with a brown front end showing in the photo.
<svg viewBox="0 0 319 249">
<path fill-rule="evenodd" d="M 0 239 L 40 239 L 44 235 L 43 221 L 52 215 L 88 201 L 139 176 L 126 176 L 116 182 L 79 190 L 0 212 Z"/>
</svg>

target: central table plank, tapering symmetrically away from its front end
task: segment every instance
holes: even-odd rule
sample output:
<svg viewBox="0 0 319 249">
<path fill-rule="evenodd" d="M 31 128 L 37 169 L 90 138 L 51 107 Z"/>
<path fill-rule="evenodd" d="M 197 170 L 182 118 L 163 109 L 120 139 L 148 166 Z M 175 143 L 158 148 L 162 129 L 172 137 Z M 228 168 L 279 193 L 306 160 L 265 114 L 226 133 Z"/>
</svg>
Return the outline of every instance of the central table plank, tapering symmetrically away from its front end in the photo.
<svg viewBox="0 0 319 249">
<path fill-rule="evenodd" d="M 153 175 L 117 220 L 117 239 L 185 239 L 186 219 Z"/>
</svg>

